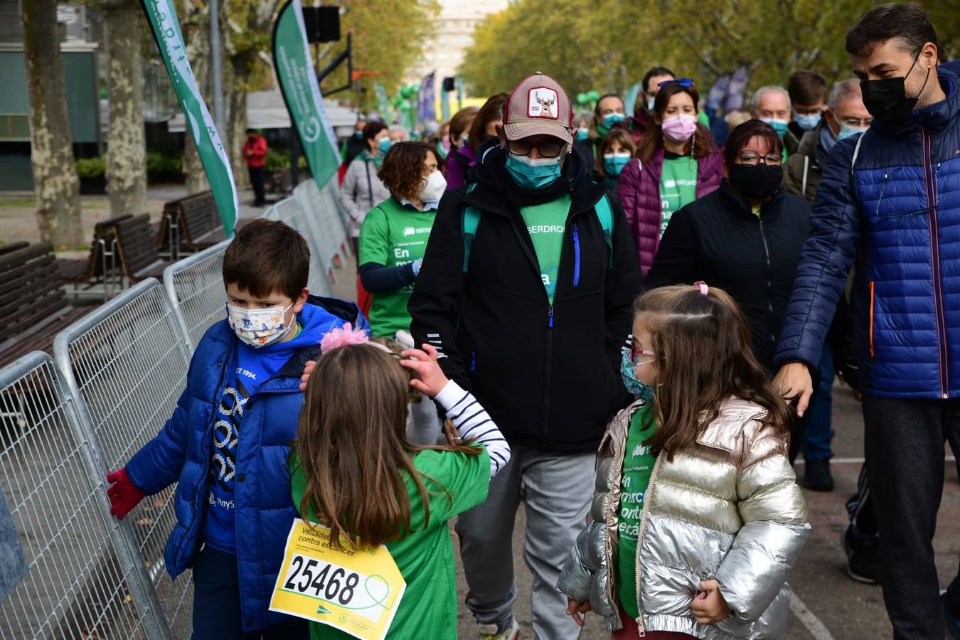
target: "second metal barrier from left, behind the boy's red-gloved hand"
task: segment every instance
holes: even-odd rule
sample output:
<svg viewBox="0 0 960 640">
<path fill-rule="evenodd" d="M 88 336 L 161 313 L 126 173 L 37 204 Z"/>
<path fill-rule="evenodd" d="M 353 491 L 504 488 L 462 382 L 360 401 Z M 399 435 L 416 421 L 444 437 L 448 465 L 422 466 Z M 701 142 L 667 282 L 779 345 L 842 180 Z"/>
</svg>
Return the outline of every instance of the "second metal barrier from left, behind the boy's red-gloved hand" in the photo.
<svg viewBox="0 0 960 640">
<path fill-rule="evenodd" d="M 100 477 L 126 464 L 178 408 L 190 362 L 181 326 L 163 287 L 149 278 L 71 324 L 54 341 L 54 361 L 77 415 L 99 444 L 95 471 Z M 172 485 L 144 499 L 123 527 L 132 533 L 171 635 L 188 637 L 190 574 L 171 581 L 163 561 L 176 523 L 175 491 Z"/>
</svg>

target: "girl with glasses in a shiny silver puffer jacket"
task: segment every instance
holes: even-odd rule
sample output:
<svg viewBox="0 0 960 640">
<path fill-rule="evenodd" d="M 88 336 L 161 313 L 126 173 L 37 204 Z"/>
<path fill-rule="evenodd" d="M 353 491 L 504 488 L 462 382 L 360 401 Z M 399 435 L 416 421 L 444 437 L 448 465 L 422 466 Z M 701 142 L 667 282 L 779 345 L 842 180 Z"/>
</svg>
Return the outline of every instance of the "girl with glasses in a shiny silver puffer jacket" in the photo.
<svg viewBox="0 0 960 640">
<path fill-rule="evenodd" d="M 638 400 L 600 443 L 593 522 L 558 588 L 612 638 L 777 638 L 810 526 L 790 414 L 732 298 L 704 283 L 634 305 L 621 373 Z"/>
</svg>

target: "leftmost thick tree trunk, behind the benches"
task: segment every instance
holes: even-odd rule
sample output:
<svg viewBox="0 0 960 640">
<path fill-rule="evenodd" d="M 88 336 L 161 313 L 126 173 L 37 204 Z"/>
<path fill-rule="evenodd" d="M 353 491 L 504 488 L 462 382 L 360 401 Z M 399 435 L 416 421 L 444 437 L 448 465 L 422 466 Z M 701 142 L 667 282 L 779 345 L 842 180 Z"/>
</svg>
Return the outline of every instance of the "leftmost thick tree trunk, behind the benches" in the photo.
<svg viewBox="0 0 960 640">
<path fill-rule="evenodd" d="M 30 93 L 30 161 L 40 237 L 57 249 L 84 244 L 80 179 L 67 119 L 57 0 L 21 0 L 24 60 Z"/>
</svg>

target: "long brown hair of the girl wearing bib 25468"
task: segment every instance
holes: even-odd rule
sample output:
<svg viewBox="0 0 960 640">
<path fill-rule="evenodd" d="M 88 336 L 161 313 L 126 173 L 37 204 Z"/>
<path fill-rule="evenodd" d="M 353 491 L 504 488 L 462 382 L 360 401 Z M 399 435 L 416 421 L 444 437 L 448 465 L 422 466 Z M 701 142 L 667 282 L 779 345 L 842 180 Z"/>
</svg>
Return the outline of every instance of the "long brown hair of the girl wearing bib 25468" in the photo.
<svg viewBox="0 0 960 640">
<path fill-rule="evenodd" d="M 409 369 L 394 352 L 373 344 L 330 349 L 317 362 L 304 393 L 295 451 L 306 479 L 300 502 L 304 519 L 330 528 L 330 543 L 341 535 L 355 547 L 376 547 L 410 533 L 406 473 L 423 502 L 424 527 L 430 519 L 425 478 L 414 456 L 424 449 L 477 455 L 469 444 L 421 447 L 406 437 L 407 404 L 418 397 Z"/>
</svg>

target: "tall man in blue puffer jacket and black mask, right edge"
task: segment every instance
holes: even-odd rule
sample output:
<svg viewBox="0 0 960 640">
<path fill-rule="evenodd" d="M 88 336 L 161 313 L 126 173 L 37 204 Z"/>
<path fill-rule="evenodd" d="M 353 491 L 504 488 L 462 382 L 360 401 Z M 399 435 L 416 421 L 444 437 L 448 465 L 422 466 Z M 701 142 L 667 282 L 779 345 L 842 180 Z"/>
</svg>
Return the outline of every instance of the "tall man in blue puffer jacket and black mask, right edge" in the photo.
<svg viewBox="0 0 960 640">
<path fill-rule="evenodd" d="M 879 578 L 896 638 L 960 638 L 960 580 L 937 600 L 931 540 L 944 442 L 960 449 L 960 77 L 937 69 L 919 5 L 883 5 L 847 36 L 870 130 L 829 155 L 776 357 L 810 394 L 850 269 Z"/>
</svg>

